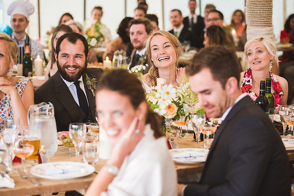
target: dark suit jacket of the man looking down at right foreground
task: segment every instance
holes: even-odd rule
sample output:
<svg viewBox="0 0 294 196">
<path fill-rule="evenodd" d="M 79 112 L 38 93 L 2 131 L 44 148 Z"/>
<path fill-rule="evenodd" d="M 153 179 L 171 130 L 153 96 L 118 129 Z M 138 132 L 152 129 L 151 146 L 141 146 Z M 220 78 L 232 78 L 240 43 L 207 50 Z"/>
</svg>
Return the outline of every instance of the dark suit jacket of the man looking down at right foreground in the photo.
<svg viewBox="0 0 294 196">
<path fill-rule="evenodd" d="M 269 117 L 249 96 L 239 100 L 216 132 L 199 184 L 187 195 L 291 195 L 288 155 Z"/>
</svg>

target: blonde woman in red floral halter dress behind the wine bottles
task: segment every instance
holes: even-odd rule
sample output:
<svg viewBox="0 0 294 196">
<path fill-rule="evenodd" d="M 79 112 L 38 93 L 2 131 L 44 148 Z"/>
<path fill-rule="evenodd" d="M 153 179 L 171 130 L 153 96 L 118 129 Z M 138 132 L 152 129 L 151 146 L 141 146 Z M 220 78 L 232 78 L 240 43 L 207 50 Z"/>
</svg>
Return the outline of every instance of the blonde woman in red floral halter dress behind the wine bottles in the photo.
<svg viewBox="0 0 294 196">
<path fill-rule="evenodd" d="M 285 78 L 270 71 L 272 64 L 278 63 L 277 48 L 273 41 L 266 37 L 252 38 L 245 44 L 244 53 L 250 68 L 240 75 L 242 92 L 247 92 L 251 99 L 255 100 L 258 97 L 260 81 L 271 78 L 275 107 L 286 105 L 288 83 Z"/>
</svg>

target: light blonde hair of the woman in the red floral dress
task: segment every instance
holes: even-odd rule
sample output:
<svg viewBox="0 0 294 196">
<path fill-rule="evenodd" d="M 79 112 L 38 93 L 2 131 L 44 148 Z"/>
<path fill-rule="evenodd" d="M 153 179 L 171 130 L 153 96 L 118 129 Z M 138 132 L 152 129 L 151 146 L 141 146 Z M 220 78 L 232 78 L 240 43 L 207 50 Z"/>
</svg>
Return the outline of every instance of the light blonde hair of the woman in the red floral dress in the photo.
<svg viewBox="0 0 294 196">
<path fill-rule="evenodd" d="M 279 66 L 279 58 L 277 56 L 277 47 L 275 46 L 273 41 L 267 37 L 255 37 L 255 38 L 252 38 L 251 40 L 248 40 L 246 42 L 246 44 L 244 46 L 244 59 L 243 59 L 244 62 L 245 62 L 245 59 L 248 61 L 247 49 L 248 49 L 249 45 L 253 42 L 256 42 L 256 41 L 260 41 L 266 47 L 268 54 L 273 56 L 273 60 L 271 60 L 271 61 L 273 61 L 273 64 L 277 63 L 277 65 Z M 249 67 L 250 67 L 250 65 L 249 65 Z"/>
</svg>

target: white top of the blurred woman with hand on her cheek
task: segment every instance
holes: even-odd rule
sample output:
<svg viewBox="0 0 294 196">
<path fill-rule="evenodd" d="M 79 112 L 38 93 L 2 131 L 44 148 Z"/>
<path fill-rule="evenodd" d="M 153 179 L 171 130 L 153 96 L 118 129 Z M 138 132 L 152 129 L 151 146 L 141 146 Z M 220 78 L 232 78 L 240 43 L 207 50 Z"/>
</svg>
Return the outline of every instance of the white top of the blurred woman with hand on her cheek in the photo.
<svg viewBox="0 0 294 196">
<path fill-rule="evenodd" d="M 145 136 L 126 156 L 118 174 L 100 196 L 175 196 L 175 165 L 165 137 L 155 139 L 150 125 Z"/>
</svg>

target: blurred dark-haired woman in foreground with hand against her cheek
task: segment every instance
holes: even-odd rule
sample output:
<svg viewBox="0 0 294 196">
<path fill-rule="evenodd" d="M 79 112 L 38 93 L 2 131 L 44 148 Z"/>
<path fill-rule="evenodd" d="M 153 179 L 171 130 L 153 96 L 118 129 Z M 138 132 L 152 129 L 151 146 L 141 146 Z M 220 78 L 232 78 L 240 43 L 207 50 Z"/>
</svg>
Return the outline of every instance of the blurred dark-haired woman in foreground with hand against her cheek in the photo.
<svg viewBox="0 0 294 196">
<path fill-rule="evenodd" d="M 97 84 L 98 123 L 114 147 L 85 196 L 175 196 L 175 165 L 141 82 L 113 69 Z"/>
</svg>

